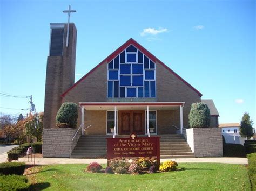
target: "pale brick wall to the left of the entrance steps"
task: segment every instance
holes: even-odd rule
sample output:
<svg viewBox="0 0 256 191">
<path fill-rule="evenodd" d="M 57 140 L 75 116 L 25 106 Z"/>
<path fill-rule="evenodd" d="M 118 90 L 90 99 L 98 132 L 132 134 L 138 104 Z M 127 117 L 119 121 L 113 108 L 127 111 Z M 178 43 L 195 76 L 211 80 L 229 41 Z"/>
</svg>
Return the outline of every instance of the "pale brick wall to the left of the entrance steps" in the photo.
<svg viewBox="0 0 256 191">
<path fill-rule="evenodd" d="M 69 158 L 81 131 L 72 141 L 76 129 L 44 128 L 43 129 L 43 157 L 66 157 Z"/>
</svg>

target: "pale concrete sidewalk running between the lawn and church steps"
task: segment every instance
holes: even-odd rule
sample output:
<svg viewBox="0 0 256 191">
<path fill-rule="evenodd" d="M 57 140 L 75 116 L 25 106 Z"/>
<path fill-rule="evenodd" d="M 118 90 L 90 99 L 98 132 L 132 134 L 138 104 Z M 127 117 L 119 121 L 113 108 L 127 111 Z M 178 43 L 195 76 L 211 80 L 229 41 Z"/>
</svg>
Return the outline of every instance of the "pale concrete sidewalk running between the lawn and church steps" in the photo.
<svg viewBox="0 0 256 191">
<path fill-rule="evenodd" d="M 54 165 L 54 164 L 89 164 L 91 162 L 98 162 L 99 164 L 106 164 L 107 159 L 70 159 L 70 158 L 35 158 L 36 165 Z M 161 162 L 166 160 L 174 160 L 178 163 L 185 162 L 212 162 L 212 163 L 224 163 L 224 164 L 239 164 L 248 165 L 247 158 L 230 158 L 230 157 L 218 157 L 218 158 L 183 158 L 183 159 L 160 159 Z M 19 162 L 25 162 L 24 158 L 19 158 Z M 34 158 L 26 158 L 26 164 L 33 164 Z"/>
</svg>

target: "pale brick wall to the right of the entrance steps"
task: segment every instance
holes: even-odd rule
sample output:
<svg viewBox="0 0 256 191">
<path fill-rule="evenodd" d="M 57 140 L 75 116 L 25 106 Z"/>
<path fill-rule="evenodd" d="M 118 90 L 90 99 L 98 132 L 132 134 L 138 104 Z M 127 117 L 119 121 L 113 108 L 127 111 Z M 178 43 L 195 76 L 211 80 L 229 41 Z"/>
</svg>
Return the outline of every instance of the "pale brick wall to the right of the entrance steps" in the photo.
<svg viewBox="0 0 256 191">
<path fill-rule="evenodd" d="M 223 157 L 220 128 L 186 129 L 184 137 L 195 157 Z"/>
</svg>

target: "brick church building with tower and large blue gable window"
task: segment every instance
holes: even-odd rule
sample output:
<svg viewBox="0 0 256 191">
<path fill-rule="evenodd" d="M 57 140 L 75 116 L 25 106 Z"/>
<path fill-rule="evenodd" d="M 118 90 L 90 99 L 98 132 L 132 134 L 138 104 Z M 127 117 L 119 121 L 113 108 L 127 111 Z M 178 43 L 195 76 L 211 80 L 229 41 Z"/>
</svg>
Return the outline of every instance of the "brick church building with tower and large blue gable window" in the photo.
<svg viewBox="0 0 256 191">
<path fill-rule="evenodd" d="M 189 128 L 188 114 L 192 103 L 207 103 L 211 111 L 211 127 L 218 127 L 219 114 L 213 101 L 201 100 L 202 94 L 196 88 L 132 38 L 74 83 L 76 26 L 73 23 L 69 26 L 52 23 L 50 26 L 44 107 L 45 143 L 51 136 L 48 129 L 56 129 L 56 114 L 64 102 L 77 103 L 80 108 L 79 131 L 76 132 L 75 143 L 71 143 L 71 153 L 82 139 L 87 138 L 89 142 L 90 136 L 98 140 L 100 137 L 125 137 L 136 133 L 138 136 L 182 138 L 184 130 Z M 71 137 L 74 139 L 73 135 Z M 64 141 L 65 136 L 61 139 Z M 46 146 L 43 146 L 43 155 L 53 157 Z M 97 146 L 95 148 L 98 149 Z M 59 156 L 72 157 L 71 153 Z M 80 155 L 88 156 L 86 150 L 84 155 Z"/>
</svg>

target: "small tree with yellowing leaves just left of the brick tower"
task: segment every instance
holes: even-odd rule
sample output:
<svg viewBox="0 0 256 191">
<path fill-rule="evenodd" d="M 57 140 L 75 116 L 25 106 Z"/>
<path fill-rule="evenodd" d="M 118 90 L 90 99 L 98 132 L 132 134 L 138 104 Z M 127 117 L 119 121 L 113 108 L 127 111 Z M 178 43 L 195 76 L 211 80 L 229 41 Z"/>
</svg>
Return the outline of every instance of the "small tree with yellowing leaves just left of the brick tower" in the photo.
<svg viewBox="0 0 256 191">
<path fill-rule="evenodd" d="M 37 141 L 42 140 L 43 133 L 43 112 L 36 113 L 34 115 L 30 114 L 26 119 L 25 131 L 26 135 L 35 136 Z"/>
</svg>

